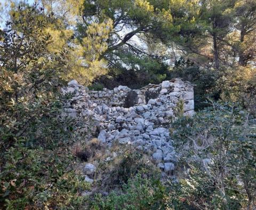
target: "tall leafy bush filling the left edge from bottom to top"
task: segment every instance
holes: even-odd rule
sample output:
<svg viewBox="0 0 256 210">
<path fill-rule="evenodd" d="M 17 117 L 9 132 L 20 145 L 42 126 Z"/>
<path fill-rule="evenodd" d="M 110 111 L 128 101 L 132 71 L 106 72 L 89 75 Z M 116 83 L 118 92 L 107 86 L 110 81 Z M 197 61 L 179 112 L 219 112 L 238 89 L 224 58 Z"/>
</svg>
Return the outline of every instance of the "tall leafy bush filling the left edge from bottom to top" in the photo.
<svg viewBox="0 0 256 210">
<path fill-rule="evenodd" d="M 0 37 L 0 208 L 79 208 L 87 189 L 72 170 L 74 123 L 61 117 L 63 52 L 37 5 L 10 11 Z"/>
</svg>

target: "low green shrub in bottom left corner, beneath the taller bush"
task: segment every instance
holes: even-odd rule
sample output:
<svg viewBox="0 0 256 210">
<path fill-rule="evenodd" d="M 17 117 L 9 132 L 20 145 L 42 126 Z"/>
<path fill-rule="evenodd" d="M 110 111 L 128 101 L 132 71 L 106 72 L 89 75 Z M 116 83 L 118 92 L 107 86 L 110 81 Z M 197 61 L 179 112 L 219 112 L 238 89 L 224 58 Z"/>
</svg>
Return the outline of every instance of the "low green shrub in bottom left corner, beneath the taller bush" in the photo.
<svg viewBox="0 0 256 210">
<path fill-rule="evenodd" d="M 68 209 L 75 202 L 81 205 L 81 193 L 89 185 L 74 173 L 74 156 L 60 148 L 31 149 L 25 144 L 19 140 L 1 154 L 0 203 L 6 209 Z"/>
</svg>

